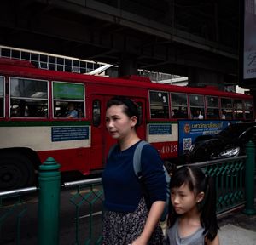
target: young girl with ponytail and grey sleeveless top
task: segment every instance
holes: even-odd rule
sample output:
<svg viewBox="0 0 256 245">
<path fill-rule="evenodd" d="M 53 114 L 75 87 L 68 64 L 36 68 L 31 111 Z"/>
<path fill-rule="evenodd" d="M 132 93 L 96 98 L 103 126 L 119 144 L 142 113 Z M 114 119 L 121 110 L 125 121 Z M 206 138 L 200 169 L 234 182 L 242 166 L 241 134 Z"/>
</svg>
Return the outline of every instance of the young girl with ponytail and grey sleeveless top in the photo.
<svg viewBox="0 0 256 245">
<path fill-rule="evenodd" d="M 216 192 L 201 168 L 182 167 L 172 175 L 164 244 L 218 245 Z"/>
</svg>

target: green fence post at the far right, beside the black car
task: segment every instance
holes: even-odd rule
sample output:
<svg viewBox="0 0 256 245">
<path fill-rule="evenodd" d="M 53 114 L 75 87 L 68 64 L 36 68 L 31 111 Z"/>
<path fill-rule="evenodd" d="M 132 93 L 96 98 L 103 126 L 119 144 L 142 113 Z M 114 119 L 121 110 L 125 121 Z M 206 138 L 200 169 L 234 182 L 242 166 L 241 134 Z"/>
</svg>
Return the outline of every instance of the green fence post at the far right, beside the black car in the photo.
<svg viewBox="0 0 256 245">
<path fill-rule="evenodd" d="M 246 145 L 247 160 L 245 173 L 245 194 L 246 207 L 242 211 L 244 214 L 256 214 L 254 208 L 254 168 L 255 168 L 255 145 L 249 141 Z"/>
</svg>

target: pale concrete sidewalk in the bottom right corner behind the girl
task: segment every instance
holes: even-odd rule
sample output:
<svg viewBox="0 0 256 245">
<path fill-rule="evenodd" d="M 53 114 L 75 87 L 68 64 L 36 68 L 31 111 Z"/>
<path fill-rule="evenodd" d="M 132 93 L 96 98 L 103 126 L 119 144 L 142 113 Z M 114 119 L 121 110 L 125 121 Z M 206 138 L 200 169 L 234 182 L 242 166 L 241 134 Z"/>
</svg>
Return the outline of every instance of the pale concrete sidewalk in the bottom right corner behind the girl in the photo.
<svg viewBox="0 0 256 245">
<path fill-rule="evenodd" d="M 256 214 L 247 215 L 241 211 L 218 218 L 220 245 L 256 244 Z"/>
</svg>

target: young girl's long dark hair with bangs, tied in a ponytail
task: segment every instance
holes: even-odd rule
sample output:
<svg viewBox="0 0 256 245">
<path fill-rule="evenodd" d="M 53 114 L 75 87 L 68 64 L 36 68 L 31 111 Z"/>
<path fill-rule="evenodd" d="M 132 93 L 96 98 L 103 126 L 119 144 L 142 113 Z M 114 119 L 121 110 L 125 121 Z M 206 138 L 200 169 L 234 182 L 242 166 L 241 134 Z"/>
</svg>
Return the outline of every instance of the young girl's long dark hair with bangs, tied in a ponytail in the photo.
<svg viewBox="0 0 256 245">
<path fill-rule="evenodd" d="M 181 167 L 172 175 L 170 190 L 172 191 L 172 188 L 180 187 L 183 184 L 188 185 L 189 190 L 193 191 L 195 195 L 201 191 L 205 193 L 203 200 L 198 203 L 197 208 L 201 212 L 201 226 L 205 229 L 203 234 L 207 240 L 212 241 L 218 232 L 216 191 L 212 177 L 204 174 L 201 168 L 198 167 Z M 169 227 L 174 225 L 178 216 L 172 207 L 172 203 L 170 203 L 167 220 Z"/>
</svg>

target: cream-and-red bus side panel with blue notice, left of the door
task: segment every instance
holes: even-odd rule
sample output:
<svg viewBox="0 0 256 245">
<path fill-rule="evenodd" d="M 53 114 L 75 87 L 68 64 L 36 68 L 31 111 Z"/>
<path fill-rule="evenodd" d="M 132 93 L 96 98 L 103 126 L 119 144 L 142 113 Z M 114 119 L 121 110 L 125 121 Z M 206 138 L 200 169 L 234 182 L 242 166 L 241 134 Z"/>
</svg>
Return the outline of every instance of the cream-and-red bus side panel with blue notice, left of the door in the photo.
<svg viewBox="0 0 256 245">
<path fill-rule="evenodd" d="M 0 149 L 31 149 L 42 163 L 53 157 L 61 171 L 89 174 L 93 168 L 90 128 L 86 122 L 2 122 L 0 134 L 5 140 L 0 140 Z"/>
</svg>

